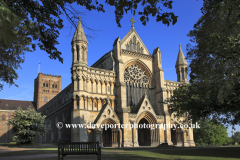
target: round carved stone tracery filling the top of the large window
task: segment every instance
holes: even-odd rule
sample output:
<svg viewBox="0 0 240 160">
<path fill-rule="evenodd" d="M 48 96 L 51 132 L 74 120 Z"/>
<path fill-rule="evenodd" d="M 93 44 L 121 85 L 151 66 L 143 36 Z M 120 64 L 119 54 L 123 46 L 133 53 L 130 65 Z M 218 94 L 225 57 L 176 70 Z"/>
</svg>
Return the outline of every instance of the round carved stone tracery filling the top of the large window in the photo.
<svg viewBox="0 0 240 160">
<path fill-rule="evenodd" d="M 149 79 L 140 67 L 131 65 L 124 71 L 124 82 L 148 84 Z"/>
</svg>

